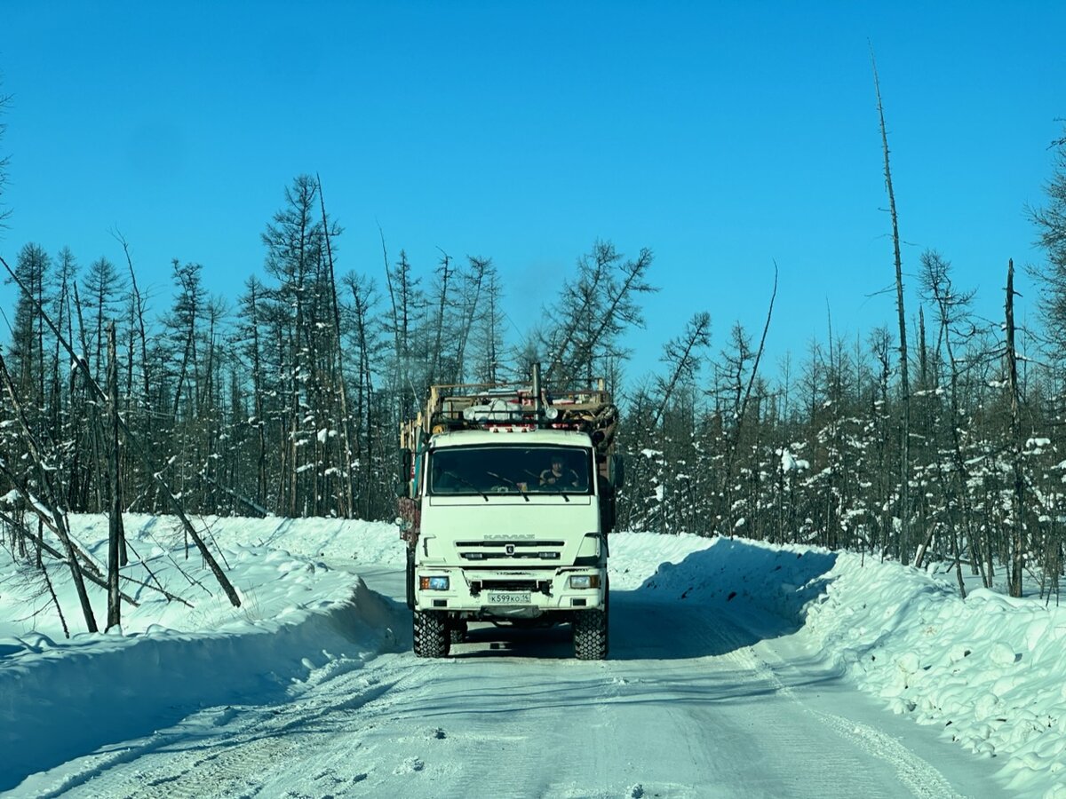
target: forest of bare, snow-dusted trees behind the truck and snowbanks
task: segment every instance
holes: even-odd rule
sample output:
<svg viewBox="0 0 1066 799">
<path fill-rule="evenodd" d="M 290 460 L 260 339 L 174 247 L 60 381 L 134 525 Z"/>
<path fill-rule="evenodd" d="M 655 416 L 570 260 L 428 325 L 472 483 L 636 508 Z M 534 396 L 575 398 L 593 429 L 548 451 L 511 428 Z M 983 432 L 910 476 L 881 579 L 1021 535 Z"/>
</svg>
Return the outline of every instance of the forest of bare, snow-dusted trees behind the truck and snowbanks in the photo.
<svg viewBox="0 0 1066 799">
<path fill-rule="evenodd" d="M 540 362 L 549 388 L 605 377 L 619 397 L 621 529 L 935 558 L 955 565 L 960 590 L 963 570 L 991 585 L 1006 569 L 1012 592 L 1025 572 L 1056 592 L 1066 142 L 1057 153 L 1031 212 L 1047 254 L 1040 330 L 1015 324 L 1008 258 L 1002 317 L 987 321 L 949 258 L 926 250 L 920 306 L 904 314 L 901 287 L 895 335 L 830 330 L 768 364 L 775 282 L 765 329 L 725 326 L 715 345 L 697 313 L 644 377 L 627 374 L 626 341 L 656 291 L 650 249 L 594 242 L 546 309 L 553 324 L 514 340 L 491 258 L 416 264 L 383 231 L 378 264 L 342 267 L 318 176 L 280 193 L 264 275 L 236 298 L 175 260 L 154 306 L 118 232 L 111 256 L 27 243 L 3 260 L 17 289 L 0 360 L 3 545 L 76 564 L 67 511 L 391 519 L 393 431 L 426 387 L 521 380 Z M 890 187 L 887 142 L 885 167 Z"/>
</svg>

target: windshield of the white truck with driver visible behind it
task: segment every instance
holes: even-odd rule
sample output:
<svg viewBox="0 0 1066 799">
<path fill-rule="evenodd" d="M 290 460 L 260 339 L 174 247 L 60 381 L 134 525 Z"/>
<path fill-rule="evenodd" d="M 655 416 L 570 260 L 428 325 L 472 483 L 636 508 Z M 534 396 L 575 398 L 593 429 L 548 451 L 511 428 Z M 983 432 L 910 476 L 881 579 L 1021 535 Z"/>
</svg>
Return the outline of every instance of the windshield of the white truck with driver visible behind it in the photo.
<svg viewBox="0 0 1066 799">
<path fill-rule="evenodd" d="M 455 446 L 430 455 L 430 493 L 592 493 L 592 453 L 572 446 Z"/>
</svg>

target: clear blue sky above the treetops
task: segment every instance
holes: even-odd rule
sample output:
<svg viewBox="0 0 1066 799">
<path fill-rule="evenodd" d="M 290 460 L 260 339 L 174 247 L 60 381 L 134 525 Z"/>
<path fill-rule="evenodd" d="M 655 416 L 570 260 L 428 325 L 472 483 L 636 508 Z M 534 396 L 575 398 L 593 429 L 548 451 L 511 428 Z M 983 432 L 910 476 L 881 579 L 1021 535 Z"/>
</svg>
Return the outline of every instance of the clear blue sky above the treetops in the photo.
<svg viewBox="0 0 1066 799">
<path fill-rule="evenodd" d="M 174 258 L 232 301 L 318 173 L 342 272 L 381 281 L 378 226 L 422 274 L 491 257 L 513 339 L 595 240 L 650 247 L 634 377 L 698 311 L 715 352 L 734 321 L 757 338 L 775 261 L 771 362 L 826 341 L 827 312 L 894 329 L 871 44 L 911 313 L 932 247 L 999 317 L 1066 117 L 1061 2 L 5 0 L 0 30 L 9 262 L 35 242 L 122 264 L 118 229 L 155 310 Z"/>
</svg>

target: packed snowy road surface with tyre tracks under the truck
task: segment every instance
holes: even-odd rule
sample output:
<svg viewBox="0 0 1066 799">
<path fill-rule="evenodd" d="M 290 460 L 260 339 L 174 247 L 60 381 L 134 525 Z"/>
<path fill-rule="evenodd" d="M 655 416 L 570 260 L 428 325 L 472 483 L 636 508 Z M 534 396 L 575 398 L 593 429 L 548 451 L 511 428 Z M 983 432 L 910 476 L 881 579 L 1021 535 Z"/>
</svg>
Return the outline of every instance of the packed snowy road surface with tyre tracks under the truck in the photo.
<svg viewBox="0 0 1066 799">
<path fill-rule="evenodd" d="M 394 652 L 338 659 L 273 704 L 203 710 L 38 774 L 69 797 L 1003 796 L 980 761 L 790 651 L 779 621 L 648 591 L 612 594 L 611 658 L 568 629 L 475 626 L 441 661 L 409 651 L 402 572 L 352 567 L 394 598 Z M 778 629 L 760 629 L 776 624 Z M 165 688 L 164 688 L 165 689 Z"/>
</svg>

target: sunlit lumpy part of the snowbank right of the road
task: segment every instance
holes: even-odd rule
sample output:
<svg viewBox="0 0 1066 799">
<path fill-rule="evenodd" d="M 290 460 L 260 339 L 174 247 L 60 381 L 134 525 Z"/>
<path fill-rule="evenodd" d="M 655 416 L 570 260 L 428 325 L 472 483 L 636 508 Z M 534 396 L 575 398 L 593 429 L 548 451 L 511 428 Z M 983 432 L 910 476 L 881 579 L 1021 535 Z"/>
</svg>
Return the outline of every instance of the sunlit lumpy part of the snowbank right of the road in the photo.
<svg viewBox="0 0 1066 799">
<path fill-rule="evenodd" d="M 842 554 L 806 631 L 859 687 L 1002 757 L 1010 787 L 1066 796 L 1066 608 Z M 1049 795 L 1052 795 L 1049 793 Z"/>
</svg>

